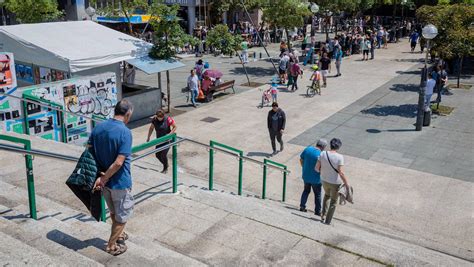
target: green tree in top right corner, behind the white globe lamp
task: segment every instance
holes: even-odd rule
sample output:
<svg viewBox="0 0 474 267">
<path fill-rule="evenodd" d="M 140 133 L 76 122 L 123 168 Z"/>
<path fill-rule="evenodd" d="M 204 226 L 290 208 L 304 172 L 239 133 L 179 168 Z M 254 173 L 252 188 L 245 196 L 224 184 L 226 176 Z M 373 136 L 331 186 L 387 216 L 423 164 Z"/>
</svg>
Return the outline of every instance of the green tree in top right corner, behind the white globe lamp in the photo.
<svg viewBox="0 0 474 267">
<path fill-rule="evenodd" d="M 467 4 L 422 6 L 416 11 L 422 23 L 438 28 L 431 52 L 443 59 L 458 59 L 458 87 L 465 56 L 474 56 L 474 7 Z"/>
</svg>

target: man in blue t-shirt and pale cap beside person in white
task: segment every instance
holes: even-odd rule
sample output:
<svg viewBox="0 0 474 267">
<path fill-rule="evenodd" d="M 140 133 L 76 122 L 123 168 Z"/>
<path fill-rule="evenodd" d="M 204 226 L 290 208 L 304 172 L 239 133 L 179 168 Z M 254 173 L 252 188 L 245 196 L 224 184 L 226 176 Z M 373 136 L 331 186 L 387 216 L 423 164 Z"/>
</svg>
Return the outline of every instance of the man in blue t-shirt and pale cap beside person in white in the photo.
<svg viewBox="0 0 474 267">
<path fill-rule="evenodd" d="M 301 167 L 303 167 L 304 191 L 301 195 L 300 211 L 306 212 L 306 201 L 308 200 L 311 188 L 314 192 L 314 214 L 321 216 L 321 177 L 316 171 L 316 162 L 318 162 L 321 151 L 327 146 L 327 141 L 319 139 L 316 147 L 308 146 L 300 155 Z"/>
</svg>

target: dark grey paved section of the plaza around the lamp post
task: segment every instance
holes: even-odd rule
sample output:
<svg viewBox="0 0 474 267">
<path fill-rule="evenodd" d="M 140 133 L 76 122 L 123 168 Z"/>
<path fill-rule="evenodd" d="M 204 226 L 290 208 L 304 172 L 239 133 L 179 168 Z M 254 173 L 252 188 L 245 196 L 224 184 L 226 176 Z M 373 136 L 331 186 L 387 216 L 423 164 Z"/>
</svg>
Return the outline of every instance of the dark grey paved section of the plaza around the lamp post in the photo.
<svg viewBox="0 0 474 267">
<path fill-rule="evenodd" d="M 474 182 L 473 91 L 456 90 L 443 97 L 442 104 L 455 111 L 433 116 L 430 127 L 416 132 L 418 71 L 415 66 L 400 74 L 290 143 L 338 137 L 346 155 Z"/>
</svg>

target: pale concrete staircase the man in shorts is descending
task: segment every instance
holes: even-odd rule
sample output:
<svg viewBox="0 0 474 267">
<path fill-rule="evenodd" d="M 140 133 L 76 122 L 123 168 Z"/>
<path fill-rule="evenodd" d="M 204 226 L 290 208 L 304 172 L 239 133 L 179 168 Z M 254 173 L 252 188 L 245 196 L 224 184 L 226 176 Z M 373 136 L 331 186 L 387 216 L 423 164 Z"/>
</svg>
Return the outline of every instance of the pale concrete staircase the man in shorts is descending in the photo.
<svg viewBox="0 0 474 267">
<path fill-rule="evenodd" d="M 32 138 L 33 147 L 69 155 L 81 148 Z M 103 251 L 110 225 L 95 222 L 64 184 L 74 164 L 34 160 L 39 220 L 28 218 L 22 155 L 0 152 L 0 262 L 11 265 L 443 265 L 472 262 L 336 221 L 323 225 L 310 213 L 278 201 L 241 197 L 180 174 L 171 179 L 137 162 L 134 215 L 128 251 Z M 110 221 L 110 220 L 108 220 Z"/>
</svg>

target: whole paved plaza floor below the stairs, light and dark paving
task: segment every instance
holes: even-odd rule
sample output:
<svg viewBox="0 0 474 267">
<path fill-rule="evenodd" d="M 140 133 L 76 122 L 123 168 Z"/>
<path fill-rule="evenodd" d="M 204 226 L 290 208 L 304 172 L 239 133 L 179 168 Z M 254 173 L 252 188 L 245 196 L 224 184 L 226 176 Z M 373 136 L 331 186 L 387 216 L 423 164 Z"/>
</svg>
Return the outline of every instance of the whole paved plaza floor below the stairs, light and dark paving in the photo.
<svg viewBox="0 0 474 267">
<path fill-rule="evenodd" d="M 314 98 L 305 96 L 310 76 L 305 68 L 300 90 L 292 93 L 281 89 L 278 95 L 287 114 L 284 140 L 288 144 L 272 160 L 292 171 L 287 199 L 298 205 L 302 191 L 299 154 L 318 138 L 339 137 L 357 198 L 355 205 L 338 208 L 339 223 L 473 259 L 472 240 L 465 238 L 466 231 L 474 233 L 470 213 L 466 212 L 471 204 L 463 197 L 473 189 L 469 175 L 473 159 L 472 91 L 455 90 L 454 95 L 445 96 L 443 104 L 455 107 L 454 112 L 446 117 L 433 116 L 430 127 L 414 131 L 422 55 L 406 53 L 408 49 L 407 43 L 401 42 L 391 44 L 388 50 L 377 50 L 373 61 L 362 62 L 360 55 L 346 58 L 342 76 L 329 78 L 322 96 Z M 272 66 L 265 66 L 271 73 Z M 269 157 L 268 109 L 257 108 L 262 88 L 267 86 L 247 89 L 176 116 L 178 134 L 232 145 L 257 159 Z M 207 117 L 217 120 L 203 121 Z M 134 129 L 137 144 L 144 140 L 146 131 L 146 126 Z M 206 150 L 182 145 L 180 153 L 181 173 L 206 180 Z M 216 157 L 216 183 L 236 188 L 236 161 L 222 154 Z M 156 164 L 154 159 L 144 162 Z M 271 173 L 268 194 L 279 199 L 281 174 Z M 244 190 L 259 196 L 261 186 L 261 169 L 246 164 Z"/>
</svg>

